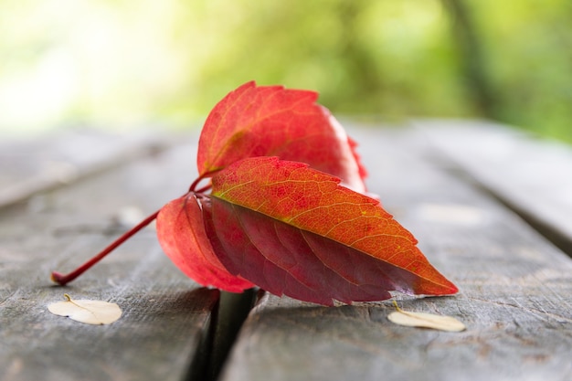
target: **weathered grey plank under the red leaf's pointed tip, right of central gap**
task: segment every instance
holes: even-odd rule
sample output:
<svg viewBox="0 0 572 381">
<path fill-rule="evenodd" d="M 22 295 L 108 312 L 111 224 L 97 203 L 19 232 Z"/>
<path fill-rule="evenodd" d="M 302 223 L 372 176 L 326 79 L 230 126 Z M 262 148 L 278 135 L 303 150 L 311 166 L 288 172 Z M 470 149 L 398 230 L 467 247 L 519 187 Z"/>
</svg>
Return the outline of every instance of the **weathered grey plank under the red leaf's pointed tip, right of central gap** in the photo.
<svg viewBox="0 0 572 381">
<path fill-rule="evenodd" d="M 397 326 L 389 302 L 324 308 L 265 296 L 224 381 L 572 378 L 572 261 L 522 219 L 430 162 L 415 131 L 355 129 L 372 192 L 461 292 L 411 300 L 462 333 Z"/>
</svg>

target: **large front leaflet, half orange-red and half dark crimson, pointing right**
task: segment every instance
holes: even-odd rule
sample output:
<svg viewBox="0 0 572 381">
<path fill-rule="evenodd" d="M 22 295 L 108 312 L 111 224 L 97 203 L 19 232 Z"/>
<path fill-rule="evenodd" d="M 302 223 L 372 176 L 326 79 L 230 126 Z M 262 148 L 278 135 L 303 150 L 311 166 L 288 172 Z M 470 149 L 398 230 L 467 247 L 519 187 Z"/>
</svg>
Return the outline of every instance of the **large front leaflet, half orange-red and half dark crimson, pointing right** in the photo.
<svg viewBox="0 0 572 381">
<path fill-rule="evenodd" d="M 213 176 L 203 208 L 223 265 L 272 293 L 308 302 L 384 300 L 388 291 L 457 288 L 370 197 L 306 164 L 249 158 Z"/>
</svg>

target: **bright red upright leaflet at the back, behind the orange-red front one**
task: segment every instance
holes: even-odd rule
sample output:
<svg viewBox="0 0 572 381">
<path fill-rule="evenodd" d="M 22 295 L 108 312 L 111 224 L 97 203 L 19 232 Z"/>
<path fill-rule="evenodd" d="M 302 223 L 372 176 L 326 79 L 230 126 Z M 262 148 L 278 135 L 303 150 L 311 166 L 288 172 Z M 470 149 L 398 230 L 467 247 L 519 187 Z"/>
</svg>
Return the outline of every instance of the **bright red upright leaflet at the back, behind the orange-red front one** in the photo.
<svg viewBox="0 0 572 381">
<path fill-rule="evenodd" d="M 280 156 L 335 175 L 365 192 L 365 168 L 355 142 L 323 106 L 318 94 L 248 82 L 230 92 L 207 117 L 198 143 L 199 175 L 252 156 Z"/>
</svg>

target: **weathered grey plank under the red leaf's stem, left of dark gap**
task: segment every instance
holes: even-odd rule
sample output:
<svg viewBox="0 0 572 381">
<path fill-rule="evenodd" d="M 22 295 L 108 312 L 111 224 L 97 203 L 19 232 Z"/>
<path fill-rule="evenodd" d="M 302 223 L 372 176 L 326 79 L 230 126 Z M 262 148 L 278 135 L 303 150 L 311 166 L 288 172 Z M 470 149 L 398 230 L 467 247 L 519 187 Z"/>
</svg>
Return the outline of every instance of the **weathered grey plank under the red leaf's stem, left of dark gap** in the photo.
<svg viewBox="0 0 572 381">
<path fill-rule="evenodd" d="M 196 145 L 181 146 L 0 212 L 0 379 L 201 379 L 218 291 L 176 270 L 154 228 L 68 287 L 49 280 L 124 231 L 126 206 L 150 214 L 185 193 L 195 154 Z M 117 302 L 122 319 L 90 326 L 50 314 L 64 292 Z"/>
</svg>

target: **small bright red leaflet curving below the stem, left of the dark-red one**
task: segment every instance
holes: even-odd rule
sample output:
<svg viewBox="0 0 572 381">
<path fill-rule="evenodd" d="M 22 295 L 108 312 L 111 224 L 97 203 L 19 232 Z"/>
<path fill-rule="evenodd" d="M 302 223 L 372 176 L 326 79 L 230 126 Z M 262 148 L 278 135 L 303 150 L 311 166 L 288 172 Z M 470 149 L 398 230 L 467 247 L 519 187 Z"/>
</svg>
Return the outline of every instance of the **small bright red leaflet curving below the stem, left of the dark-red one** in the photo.
<svg viewBox="0 0 572 381">
<path fill-rule="evenodd" d="M 207 238 L 195 194 L 190 193 L 163 206 L 157 216 L 157 237 L 164 253 L 197 283 L 231 292 L 254 286 L 248 280 L 230 274 L 217 259 Z"/>
</svg>

